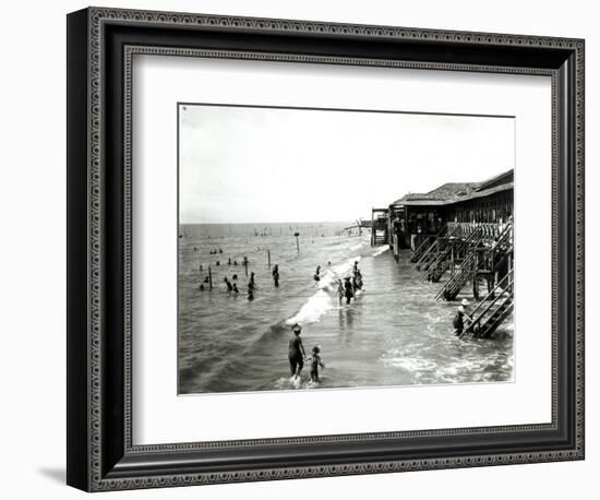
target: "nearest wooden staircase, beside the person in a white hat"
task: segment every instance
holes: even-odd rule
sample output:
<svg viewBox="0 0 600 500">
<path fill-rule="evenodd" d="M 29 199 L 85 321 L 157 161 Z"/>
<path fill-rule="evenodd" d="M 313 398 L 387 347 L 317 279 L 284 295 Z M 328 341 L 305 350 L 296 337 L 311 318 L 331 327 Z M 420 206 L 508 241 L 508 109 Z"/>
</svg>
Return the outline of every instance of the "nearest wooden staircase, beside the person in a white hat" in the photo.
<svg viewBox="0 0 600 500">
<path fill-rule="evenodd" d="M 470 332 L 475 338 L 489 338 L 514 309 L 514 273 L 513 270 L 479 302 L 472 311 L 472 322 L 465 333 Z"/>
</svg>

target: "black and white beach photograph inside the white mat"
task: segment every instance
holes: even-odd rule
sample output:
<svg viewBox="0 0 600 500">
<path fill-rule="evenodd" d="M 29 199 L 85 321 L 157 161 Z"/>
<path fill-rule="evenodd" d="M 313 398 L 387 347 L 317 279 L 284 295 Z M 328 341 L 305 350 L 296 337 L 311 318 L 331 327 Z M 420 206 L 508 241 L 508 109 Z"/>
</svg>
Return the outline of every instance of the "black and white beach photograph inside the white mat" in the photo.
<svg viewBox="0 0 600 500">
<path fill-rule="evenodd" d="M 515 117 L 177 106 L 179 394 L 515 380 Z"/>
</svg>

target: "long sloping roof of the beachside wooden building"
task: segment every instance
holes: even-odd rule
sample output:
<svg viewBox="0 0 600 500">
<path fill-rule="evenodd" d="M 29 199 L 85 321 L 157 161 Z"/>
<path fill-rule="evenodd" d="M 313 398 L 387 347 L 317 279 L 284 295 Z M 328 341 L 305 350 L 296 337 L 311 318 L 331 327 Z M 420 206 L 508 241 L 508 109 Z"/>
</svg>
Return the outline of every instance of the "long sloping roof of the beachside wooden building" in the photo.
<svg viewBox="0 0 600 500">
<path fill-rule="evenodd" d="M 482 182 L 446 182 L 427 193 L 408 193 L 393 205 L 447 205 L 513 189 L 514 169 Z"/>
</svg>

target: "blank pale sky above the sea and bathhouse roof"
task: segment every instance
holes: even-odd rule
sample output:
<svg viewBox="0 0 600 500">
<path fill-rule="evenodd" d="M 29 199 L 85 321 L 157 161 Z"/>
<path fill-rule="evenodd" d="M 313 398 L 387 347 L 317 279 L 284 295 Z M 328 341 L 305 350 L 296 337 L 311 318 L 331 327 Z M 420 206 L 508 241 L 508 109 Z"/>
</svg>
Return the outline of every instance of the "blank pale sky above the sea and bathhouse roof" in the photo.
<svg viewBox="0 0 600 500">
<path fill-rule="evenodd" d="M 179 105 L 180 222 L 371 218 L 514 168 L 509 117 Z"/>
</svg>

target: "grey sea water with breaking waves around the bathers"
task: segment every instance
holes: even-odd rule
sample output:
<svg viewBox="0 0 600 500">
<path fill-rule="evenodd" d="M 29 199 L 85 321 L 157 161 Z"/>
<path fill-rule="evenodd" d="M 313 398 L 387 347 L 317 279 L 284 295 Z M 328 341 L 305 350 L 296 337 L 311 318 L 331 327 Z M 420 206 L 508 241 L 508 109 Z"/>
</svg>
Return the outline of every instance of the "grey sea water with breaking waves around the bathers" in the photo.
<svg viewBox="0 0 600 500">
<path fill-rule="evenodd" d="M 493 340 L 458 340 L 457 302 L 435 301 L 442 284 L 420 283 L 409 252 L 396 262 L 369 234 L 338 235 L 346 225 L 182 225 L 179 238 L 179 390 L 182 394 L 323 388 L 512 381 L 513 320 Z M 300 252 L 293 233 L 300 233 Z M 223 253 L 211 254 L 211 250 Z M 267 265 L 279 265 L 275 287 Z M 247 298 L 243 257 L 255 273 Z M 238 261 L 238 265 L 227 262 Z M 220 265 L 216 265 L 220 261 Z M 364 288 L 339 305 L 335 281 L 359 262 Z M 321 281 L 313 275 L 321 265 Z M 201 271 L 202 266 L 202 271 Z M 211 266 L 213 290 L 199 286 Z M 236 282 L 228 294 L 224 277 Z M 307 355 L 321 347 L 325 368 L 310 382 L 305 365 L 292 380 L 288 341 L 302 325 Z"/>
</svg>

